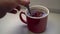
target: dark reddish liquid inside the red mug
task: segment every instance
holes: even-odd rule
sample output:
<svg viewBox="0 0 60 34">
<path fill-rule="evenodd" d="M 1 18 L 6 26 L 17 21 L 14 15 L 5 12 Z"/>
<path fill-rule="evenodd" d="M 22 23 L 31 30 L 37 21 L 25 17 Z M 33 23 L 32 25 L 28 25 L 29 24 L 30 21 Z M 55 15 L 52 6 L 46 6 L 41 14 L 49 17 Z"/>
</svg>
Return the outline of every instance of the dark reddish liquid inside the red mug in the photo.
<svg viewBox="0 0 60 34">
<path fill-rule="evenodd" d="M 34 9 L 31 9 L 30 12 L 31 12 L 31 14 L 30 13 L 28 13 L 28 14 L 30 14 L 30 16 L 32 16 L 32 17 L 42 17 L 42 16 L 46 15 L 46 13 L 44 12 L 43 9 L 34 8 Z"/>
</svg>

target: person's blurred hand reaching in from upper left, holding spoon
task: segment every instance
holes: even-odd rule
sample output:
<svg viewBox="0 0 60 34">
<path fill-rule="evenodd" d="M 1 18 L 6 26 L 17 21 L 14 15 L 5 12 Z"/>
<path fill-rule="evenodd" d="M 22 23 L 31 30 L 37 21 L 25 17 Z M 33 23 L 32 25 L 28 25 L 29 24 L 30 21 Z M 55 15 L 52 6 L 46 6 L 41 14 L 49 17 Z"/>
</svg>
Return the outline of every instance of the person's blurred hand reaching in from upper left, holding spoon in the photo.
<svg viewBox="0 0 60 34">
<path fill-rule="evenodd" d="M 6 13 L 18 5 L 29 5 L 30 0 L 0 0 L 0 18 L 4 17 Z"/>
</svg>

